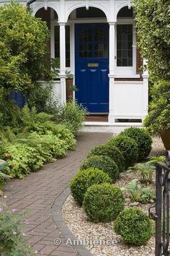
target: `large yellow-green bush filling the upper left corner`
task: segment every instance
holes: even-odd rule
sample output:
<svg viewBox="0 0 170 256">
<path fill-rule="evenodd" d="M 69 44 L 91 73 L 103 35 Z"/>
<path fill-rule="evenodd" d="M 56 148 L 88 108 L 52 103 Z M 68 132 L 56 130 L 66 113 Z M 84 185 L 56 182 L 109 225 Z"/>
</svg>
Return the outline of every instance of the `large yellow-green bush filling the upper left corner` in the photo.
<svg viewBox="0 0 170 256">
<path fill-rule="evenodd" d="M 12 1 L 0 7 L 0 84 L 4 88 L 28 91 L 45 67 L 49 38 L 45 22 L 27 7 Z"/>
</svg>

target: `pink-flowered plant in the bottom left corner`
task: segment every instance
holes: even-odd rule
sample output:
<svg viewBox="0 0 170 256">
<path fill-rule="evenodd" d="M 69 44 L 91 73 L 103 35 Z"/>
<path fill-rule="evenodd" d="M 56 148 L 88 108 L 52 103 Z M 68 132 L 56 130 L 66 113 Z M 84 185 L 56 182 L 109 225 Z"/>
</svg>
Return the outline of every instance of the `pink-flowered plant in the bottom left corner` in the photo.
<svg viewBox="0 0 170 256">
<path fill-rule="evenodd" d="M 23 232 L 24 215 L 16 211 L 0 205 L 0 255 L 35 255 L 27 245 L 26 234 Z"/>
</svg>

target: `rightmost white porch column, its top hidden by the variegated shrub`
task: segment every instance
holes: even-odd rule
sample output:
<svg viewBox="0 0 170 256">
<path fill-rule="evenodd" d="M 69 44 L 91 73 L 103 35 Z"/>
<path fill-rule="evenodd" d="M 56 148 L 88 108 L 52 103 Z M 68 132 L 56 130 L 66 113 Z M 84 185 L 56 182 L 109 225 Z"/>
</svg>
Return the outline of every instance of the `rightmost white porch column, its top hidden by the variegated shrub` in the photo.
<svg viewBox="0 0 170 256">
<path fill-rule="evenodd" d="M 146 66 L 146 59 L 143 60 L 143 66 Z M 148 114 L 148 70 L 143 71 L 143 119 Z"/>
</svg>

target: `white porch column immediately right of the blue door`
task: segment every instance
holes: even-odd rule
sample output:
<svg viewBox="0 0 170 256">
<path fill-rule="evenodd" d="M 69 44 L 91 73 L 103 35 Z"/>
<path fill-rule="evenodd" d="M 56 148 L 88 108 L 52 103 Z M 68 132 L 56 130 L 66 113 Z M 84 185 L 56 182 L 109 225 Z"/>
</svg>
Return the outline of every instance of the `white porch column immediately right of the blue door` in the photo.
<svg viewBox="0 0 170 256">
<path fill-rule="evenodd" d="M 109 22 L 109 122 L 114 123 L 114 101 L 113 95 L 115 84 L 115 24 Z"/>
</svg>

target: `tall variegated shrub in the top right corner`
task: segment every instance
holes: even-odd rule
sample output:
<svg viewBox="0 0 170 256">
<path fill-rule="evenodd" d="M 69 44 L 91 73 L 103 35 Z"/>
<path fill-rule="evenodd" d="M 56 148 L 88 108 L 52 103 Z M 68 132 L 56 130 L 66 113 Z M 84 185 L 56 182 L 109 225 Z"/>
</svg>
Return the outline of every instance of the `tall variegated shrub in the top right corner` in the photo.
<svg viewBox="0 0 170 256">
<path fill-rule="evenodd" d="M 170 80 L 169 1 L 134 0 L 139 46 L 154 78 Z"/>
</svg>

